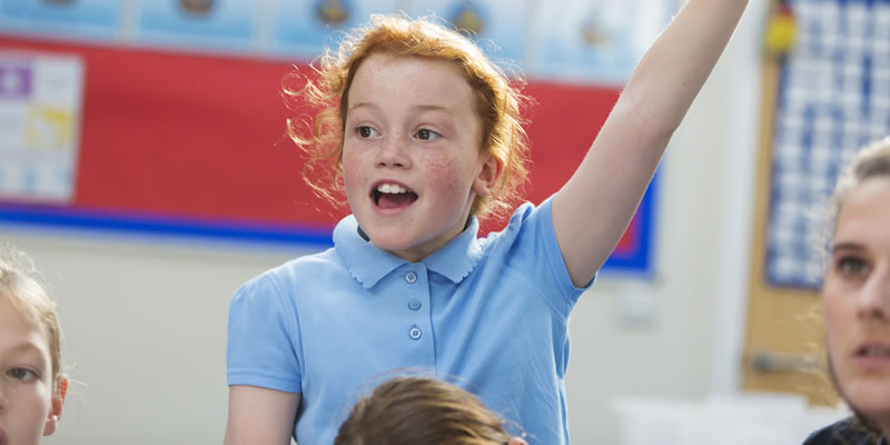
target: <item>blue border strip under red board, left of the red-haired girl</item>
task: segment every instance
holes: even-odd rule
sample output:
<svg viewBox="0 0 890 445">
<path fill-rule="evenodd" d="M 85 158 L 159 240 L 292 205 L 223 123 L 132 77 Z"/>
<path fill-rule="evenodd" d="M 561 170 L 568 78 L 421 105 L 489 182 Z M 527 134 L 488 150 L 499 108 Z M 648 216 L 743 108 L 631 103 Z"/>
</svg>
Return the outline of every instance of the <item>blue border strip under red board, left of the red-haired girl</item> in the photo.
<svg viewBox="0 0 890 445">
<path fill-rule="evenodd" d="M 330 247 L 333 227 L 273 225 L 174 217 L 148 212 L 90 210 L 83 208 L 0 202 L 0 224 L 176 236 L 210 240 Z"/>
</svg>

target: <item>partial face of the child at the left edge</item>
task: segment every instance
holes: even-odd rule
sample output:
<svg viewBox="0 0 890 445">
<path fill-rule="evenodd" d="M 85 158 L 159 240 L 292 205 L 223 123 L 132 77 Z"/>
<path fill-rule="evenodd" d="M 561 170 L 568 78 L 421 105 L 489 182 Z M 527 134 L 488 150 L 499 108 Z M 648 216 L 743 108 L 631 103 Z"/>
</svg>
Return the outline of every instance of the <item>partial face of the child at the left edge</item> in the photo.
<svg viewBox="0 0 890 445">
<path fill-rule="evenodd" d="M 53 389 L 48 345 L 40 325 L 0 294 L 0 443 L 36 445 L 47 433 Z"/>
</svg>

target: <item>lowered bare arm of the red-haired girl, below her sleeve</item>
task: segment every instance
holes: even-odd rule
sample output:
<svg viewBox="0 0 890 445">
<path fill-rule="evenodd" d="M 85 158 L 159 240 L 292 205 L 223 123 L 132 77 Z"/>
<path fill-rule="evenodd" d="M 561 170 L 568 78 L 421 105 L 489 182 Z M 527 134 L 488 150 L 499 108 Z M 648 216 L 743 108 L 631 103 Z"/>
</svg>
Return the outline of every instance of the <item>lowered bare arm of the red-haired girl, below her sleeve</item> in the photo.
<svg viewBox="0 0 890 445">
<path fill-rule="evenodd" d="M 225 445 L 290 445 L 300 394 L 233 385 Z"/>
</svg>

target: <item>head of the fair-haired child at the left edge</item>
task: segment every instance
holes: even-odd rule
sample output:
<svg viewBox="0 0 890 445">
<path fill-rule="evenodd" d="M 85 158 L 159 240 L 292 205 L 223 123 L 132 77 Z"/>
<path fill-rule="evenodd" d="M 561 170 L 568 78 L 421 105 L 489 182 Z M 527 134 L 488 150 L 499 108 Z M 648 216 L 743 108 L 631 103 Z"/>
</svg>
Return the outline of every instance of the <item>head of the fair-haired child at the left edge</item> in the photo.
<svg viewBox="0 0 890 445">
<path fill-rule="evenodd" d="M 0 255 L 0 444 L 33 445 L 56 432 L 68 390 L 56 304 L 29 264 Z"/>
</svg>

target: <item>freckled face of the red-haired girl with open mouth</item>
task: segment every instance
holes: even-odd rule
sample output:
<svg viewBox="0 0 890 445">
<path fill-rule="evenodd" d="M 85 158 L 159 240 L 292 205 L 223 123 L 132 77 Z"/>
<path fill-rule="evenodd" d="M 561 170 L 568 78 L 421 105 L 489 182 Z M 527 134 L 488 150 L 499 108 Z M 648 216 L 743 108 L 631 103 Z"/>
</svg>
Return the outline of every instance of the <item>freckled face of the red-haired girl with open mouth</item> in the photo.
<svg viewBox="0 0 890 445">
<path fill-rule="evenodd" d="M 418 261 L 463 231 L 496 164 L 481 154 L 475 99 L 454 62 L 369 56 L 349 88 L 343 172 L 370 241 Z"/>
</svg>

